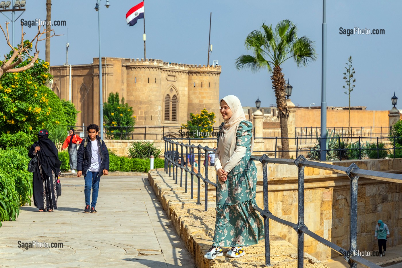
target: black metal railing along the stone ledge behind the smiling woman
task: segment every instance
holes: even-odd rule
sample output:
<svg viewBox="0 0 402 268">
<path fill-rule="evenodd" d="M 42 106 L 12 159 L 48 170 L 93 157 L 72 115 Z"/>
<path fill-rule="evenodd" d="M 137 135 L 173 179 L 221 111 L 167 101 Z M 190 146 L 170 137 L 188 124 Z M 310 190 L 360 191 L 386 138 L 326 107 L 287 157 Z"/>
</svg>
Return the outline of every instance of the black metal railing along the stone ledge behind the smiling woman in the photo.
<svg viewBox="0 0 402 268">
<path fill-rule="evenodd" d="M 215 150 L 207 147 L 195 146 L 193 144 L 183 144 L 183 142 L 178 143 L 173 141 L 169 138 L 164 138 L 165 143 L 165 152 L 174 150 L 174 146 L 176 146 L 176 151 L 178 151 L 178 146 L 180 146 L 181 155 L 183 155 L 183 149 L 186 149 L 186 155 L 188 153 L 193 156 L 194 159 L 194 149 L 198 149 L 198 162 L 201 161 L 201 150 L 205 151 L 205 157 L 207 157 L 208 152 L 213 152 Z M 190 149 L 190 152 L 188 152 Z M 215 186 L 216 183 L 213 183 L 208 179 L 208 169 L 205 168 L 205 177 L 201 175 L 200 166 L 198 167 L 198 172 L 193 170 L 193 163 L 191 161 L 191 170 L 188 169 L 187 163 L 186 167 L 183 165 L 183 161 L 179 162 L 179 157 L 172 157 L 172 153 L 169 155 L 165 153 L 165 171 L 166 173 L 171 176 L 171 168 L 173 168 L 173 179 L 175 183 L 178 183 L 178 168 L 180 168 L 180 187 L 183 187 L 183 170 L 186 172 L 185 174 L 185 192 L 187 192 L 187 174 L 191 174 L 191 198 L 193 198 L 193 176 L 198 178 L 198 185 L 197 185 L 197 204 L 200 203 L 200 180 L 204 181 L 205 183 L 205 211 L 208 210 L 207 205 L 207 191 L 208 191 L 208 183 Z M 191 159 L 191 158 L 190 158 Z M 356 268 L 357 264 L 361 264 L 367 268 L 380 268 L 377 264 L 369 262 L 364 258 L 357 256 L 357 189 L 358 189 L 358 179 L 360 177 L 369 178 L 369 179 L 377 179 L 379 181 L 388 181 L 388 182 L 395 182 L 395 183 L 402 183 L 402 175 L 394 174 L 394 173 L 385 173 L 379 171 L 371 171 L 365 169 L 359 169 L 359 167 L 353 163 L 349 167 L 342 167 L 338 165 L 331 165 L 321 162 L 313 162 L 308 161 L 303 155 L 299 155 L 296 159 L 277 159 L 277 158 L 270 158 L 267 155 L 263 155 L 261 157 L 258 156 L 251 156 L 251 159 L 255 161 L 260 161 L 263 164 L 263 194 L 264 194 L 264 208 L 261 209 L 257 205 L 254 205 L 254 209 L 260 212 L 261 216 L 264 218 L 264 228 L 265 228 L 265 264 L 267 266 L 271 265 L 271 255 L 269 251 L 269 219 L 281 223 L 285 226 L 291 227 L 297 233 L 297 268 L 302 268 L 304 264 L 304 234 L 312 237 L 313 239 L 317 240 L 318 242 L 326 245 L 330 249 L 338 252 L 340 255 L 344 256 L 343 258 L 349 264 L 351 268 Z M 205 161 L 207 162 L 207 161 Z M 298 201 L 297 201 L 297 223 L 292 223 L 281 219 L 275 215 L 273 215 L 269 211 L 269 203 L 268 203 L 268 171 L 267 171 L 267 164 L 268 163 L 275 163 L 275 164 L 283 164 L 283 165 L 295 165 L 298 169 Z M 340 174 L 345 174 L 350 179 L 350 243 L 349 249 L 344 249 L 323 237 L 320 237 L 316 233 L 310 231 L 308 227 L 304 224 L 304 167 L 312 167 L 316 169 L 323 169 L 328 171 L 333 171 Z M 168 170 L 169 169 L 169 170 Z M 175 172 L 176 171 L 176 174 Z M 216 176 L 217 177 L 217 176 Z M 216 178 L 217 179 L 217 178 Z"/>
</svg>

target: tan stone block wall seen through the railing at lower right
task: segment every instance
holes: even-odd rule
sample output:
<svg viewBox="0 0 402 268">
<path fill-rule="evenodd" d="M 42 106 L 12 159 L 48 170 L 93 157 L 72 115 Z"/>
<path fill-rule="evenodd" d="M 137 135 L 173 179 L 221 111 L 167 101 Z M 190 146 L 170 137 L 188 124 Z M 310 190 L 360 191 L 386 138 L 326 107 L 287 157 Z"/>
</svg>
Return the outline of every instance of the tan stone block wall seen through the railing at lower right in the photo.
<svg viewBox="0 0 402 268">
<path fill-rule="evenodd" d="M 263 207 L 263 167 L 258 161 L 258 206 Z M 355 163 L 361 169 L 402 173 L 402 159 L 367 159 L 325 162 L 348 167 Z M 279 218 L 297 223 L 297 167 L 268 164 L 269 210 Z M 209 170 L 209 176 L 215 176 Z M 213 177 L 215 178 L 215 177 Z M 214 181 L 214 180 L 213 180 Z M 390 228 L 388 246 L 402 244 L 402 184 L 359 178 L 357 249 L 378 250 L 374 228 L 379 219 Z M 211 194 L 215 189 L 209 188 Z M 305 168 L 305 224 L 313 232 L 343 248 L 349 248 L 350 179 L 332 171 Z M 297 234 L 289 227 L 270 221 L 270 231 L 297 245 Z M 306 237 L 305 251 L 319 260 L 338 256 L 318 241 Z"/>
</svg>

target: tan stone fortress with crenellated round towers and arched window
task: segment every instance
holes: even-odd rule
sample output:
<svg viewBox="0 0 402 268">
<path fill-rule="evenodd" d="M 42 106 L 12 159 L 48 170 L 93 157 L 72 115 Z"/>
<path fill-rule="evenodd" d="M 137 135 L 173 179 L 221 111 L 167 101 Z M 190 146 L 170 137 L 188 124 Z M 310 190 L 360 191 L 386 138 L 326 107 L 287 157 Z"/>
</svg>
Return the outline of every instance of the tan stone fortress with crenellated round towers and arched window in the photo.
<svg viewBox="0 0 402 268">
<path fill-rule="evenodd" d="M 134 109 L 136 126 L 180 126 L 190 113 L 200 113 L 203 108 L 219 113 L 221 66 L 109 57 L 102 58 L 102 66 L 103 101 L 111 92 L 125 97 Z M 50 73 L 52 90 L 60 99 L 69 100 L 70 66 L 51 66 Z M 100 122 L 98 75 L 98 58 L 92 64 L 71 66 L 71 100 L 81 111 L 78 126 Z M 166 96 L 169 107 L 165 107 Z M 216 121 L 219 126 L 222 118 Z"/>
</svg>

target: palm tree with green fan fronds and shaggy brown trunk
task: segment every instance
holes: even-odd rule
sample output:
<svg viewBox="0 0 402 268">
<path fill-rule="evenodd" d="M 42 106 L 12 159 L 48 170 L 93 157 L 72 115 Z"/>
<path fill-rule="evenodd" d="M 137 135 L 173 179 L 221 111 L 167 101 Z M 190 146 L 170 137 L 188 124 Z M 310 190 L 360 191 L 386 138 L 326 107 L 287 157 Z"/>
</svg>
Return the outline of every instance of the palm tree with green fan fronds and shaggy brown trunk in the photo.
<svg viewBox="0 0 402 268">
<path fill-rule="evenodd" d="M 313 41 L 306 36 L 297 37 L 297 28 L 289 20 L 280 21 L 275 27 L 263 23 L 261 30 L 254 30 L 246 37 L 244 45 L 252 55 L 242 55 L 236 60 L 238 70 L 249 68 L 252 72 L 267 69 L 272 73 L 272 88 L 277 102 L 277 116 L 281 122 L 282 150 L 289 150 L 287 132 L 287 117 L 289 109 L 285 99 L 285 78 L 281 64 L 293 58 L 297 66 L 307 66 L 308 62 L 316 60 L 317 54 Z M 289 152 L 283 152 L 282 158 L 289 159 Z"/>
</svg>

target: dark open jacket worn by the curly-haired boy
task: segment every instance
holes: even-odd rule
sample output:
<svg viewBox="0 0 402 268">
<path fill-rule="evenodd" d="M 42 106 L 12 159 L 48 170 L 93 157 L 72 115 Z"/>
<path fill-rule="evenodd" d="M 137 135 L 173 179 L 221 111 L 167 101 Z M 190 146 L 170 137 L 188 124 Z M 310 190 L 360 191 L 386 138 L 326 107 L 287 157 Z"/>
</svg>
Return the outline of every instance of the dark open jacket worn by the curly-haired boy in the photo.
<svg viewBox="0 0 402 268">
<path fill-rule="evenodd" d="M 77 171 L 82 171 L 82 175 L 86 176 L 86 171 L 88 171 L 91 165 L 91 157 L 92 157 L 92 144 L 89 136 L 86 138 L 88 140 L 86 147 L 84 147 L 85 139 L 82 140 L 80 144 L 80 148 L 77 153 Z M 100 148 L 100 169 L 99 175 L 103 174 L 103 169 L 109 171 L 109 152 L 107 151 L 106 144 L 102 140 L 100 142 L 100 137 L 96 135 L 96 140 L 98 141 L 98 146 Z M 85 150 L 85 154 L 84 154 Z M 85 158 L 84 158 L 85 156 Z"/>
</svg>

